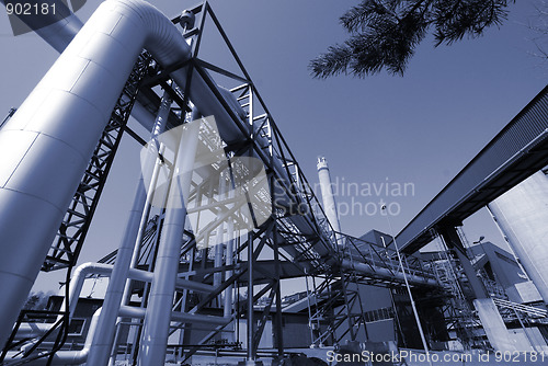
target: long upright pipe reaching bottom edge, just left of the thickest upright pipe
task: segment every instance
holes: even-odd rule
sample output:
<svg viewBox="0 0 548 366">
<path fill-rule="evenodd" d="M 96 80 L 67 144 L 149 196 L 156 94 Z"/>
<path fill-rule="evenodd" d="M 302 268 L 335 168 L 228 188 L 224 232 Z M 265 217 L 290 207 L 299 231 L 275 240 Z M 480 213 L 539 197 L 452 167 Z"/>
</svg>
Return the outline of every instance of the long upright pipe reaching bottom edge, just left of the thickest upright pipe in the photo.
<svg viewBox="0 0 548 366">
<path fill-rule="evenodd" d="M 155 140 L 159 134 L 165 128 L 168 115 L 171 107 L 171 99 L 168 92 L 164 92 L 158 116 L 151 133 L 151 139 Z M 149 145 L 150 149 L 157 149 L 156 144 Z M 147 156 L 146 167 L 155 167 L 157 153 Z M 149 190 L 150 193 L 150 190 Z M 106 295 L 103 304 L 103 311 L 99 318 L 98 329 L 93 336 L 89 364 L 90 365 L 106 365 L 111 348 L 114 341 L 114 332 L 116 329 L 116 319 L 119 305 L 124 299 L 124 288 L 128 277 L 128 271 L 136 248 L 140 244 L 141 233 L 139 229 L 144 217 L 145 206 L 147 204 L 147 192 L 145 190 L 145 181 L 142 174 L 135 192 L 134 204 L 129 211 L 129 217 L 124 231 L 124 237 L 116 253 L 116 262 L 112 272 L 111 281 L 106 289 Z"/>
</svg>

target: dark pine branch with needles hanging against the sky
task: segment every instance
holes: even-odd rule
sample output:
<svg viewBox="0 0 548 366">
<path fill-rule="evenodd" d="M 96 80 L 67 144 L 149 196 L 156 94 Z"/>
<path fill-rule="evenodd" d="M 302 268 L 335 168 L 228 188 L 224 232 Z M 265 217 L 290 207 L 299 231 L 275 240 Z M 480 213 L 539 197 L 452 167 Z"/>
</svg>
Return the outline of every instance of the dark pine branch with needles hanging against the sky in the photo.
<svg viewBox="0 0 548 366">
<path fill-rule="evenodd" d="M 340 19 L 349 39 L 315 58 L 310 73 L 363 78 L 386 69 L 402 76 L 431 26 L 435 46 L 478 37 L 506 19 L 510 2 L 515 0 L 363 0 Z"/>
</svg>

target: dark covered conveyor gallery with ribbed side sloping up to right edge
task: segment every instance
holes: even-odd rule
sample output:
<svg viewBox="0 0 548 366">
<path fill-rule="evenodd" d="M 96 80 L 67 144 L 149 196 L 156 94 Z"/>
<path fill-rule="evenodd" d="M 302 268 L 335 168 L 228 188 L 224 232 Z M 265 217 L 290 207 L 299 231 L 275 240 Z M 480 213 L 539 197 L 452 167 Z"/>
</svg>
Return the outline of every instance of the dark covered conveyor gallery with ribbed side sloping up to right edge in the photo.
<svg viewBox="0 0 548 366">
<path fill-rule="evenodd" d="M 536 95 L 397 236 L 416 252 L 436 229 L 455 227 L 548 160 L 548 87 Z"/>
</svg>

